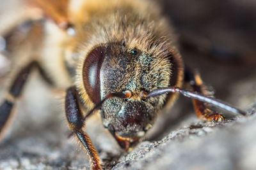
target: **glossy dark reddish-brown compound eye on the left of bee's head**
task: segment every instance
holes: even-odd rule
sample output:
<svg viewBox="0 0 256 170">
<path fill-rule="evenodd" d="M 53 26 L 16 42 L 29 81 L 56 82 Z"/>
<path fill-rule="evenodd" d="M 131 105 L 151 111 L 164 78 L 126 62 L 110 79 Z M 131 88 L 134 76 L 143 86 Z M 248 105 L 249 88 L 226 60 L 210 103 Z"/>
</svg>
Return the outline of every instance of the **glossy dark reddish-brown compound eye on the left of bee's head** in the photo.
<svg viewBox="0 0 256 170">
<path fill-rule="evenodd" d="M 84 60 L 83 81 L 86 93 L 93 103 L 100 101 L 100 69 L 104 56 L 106 54 L 105 46 L 98 46 L 88 53 Z"/>
</svg>

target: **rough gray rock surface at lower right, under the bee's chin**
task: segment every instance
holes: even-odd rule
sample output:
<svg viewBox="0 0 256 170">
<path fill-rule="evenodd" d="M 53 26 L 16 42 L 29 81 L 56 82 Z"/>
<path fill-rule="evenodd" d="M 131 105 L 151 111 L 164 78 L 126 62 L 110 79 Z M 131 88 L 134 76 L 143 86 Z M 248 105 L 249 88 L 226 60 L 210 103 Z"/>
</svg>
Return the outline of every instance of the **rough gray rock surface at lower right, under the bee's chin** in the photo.
<svg viewBox="0 0 256 170">
<path fill-rule="evenodd" d="M 177 129 L 145 141 L 113 169 L 255 169 L 256 117 Z"/>
</svg>

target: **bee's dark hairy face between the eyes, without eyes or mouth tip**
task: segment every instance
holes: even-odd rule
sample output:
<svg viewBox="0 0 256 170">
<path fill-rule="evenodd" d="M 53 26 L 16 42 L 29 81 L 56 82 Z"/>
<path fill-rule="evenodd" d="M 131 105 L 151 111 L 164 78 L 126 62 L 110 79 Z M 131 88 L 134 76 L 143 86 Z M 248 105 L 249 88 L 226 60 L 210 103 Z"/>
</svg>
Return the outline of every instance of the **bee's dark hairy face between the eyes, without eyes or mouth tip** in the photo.
<svg viewBox="0 0 256 170">
<path fill-rule="evenodd" d="M 100 96 L 130 90 L 129 99 L 108 99 L 102 105 L 104 124 L 112 124 L 120 136 L 133 136 L 152 124 L 166 96 L 141 99 L 141 92 L 168 87 L 171 64 L 168 55 L 159 59 L 154 53 L 124 43 L 109 43 L 100 71 Z M 107 126 L 107 125 L 106 125 Z M 133 136 L 134 137 L 134 136 Z"/>
</svg>

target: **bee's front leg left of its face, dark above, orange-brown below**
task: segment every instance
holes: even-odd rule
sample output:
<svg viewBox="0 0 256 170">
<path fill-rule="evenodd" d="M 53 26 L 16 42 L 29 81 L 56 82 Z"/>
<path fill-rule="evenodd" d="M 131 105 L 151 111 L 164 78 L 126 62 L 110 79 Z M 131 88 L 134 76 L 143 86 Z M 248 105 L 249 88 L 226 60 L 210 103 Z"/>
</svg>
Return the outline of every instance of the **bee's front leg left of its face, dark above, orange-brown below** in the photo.
<svg viewBox="0 0 256 170">
<path fill-rule="evenodd" d="M 91 159 L 92 169 L 101 169 L 99 155 L 95 150 L 90 137 L 83 131 L 83 115 L 79 108 L 79 96 L 76 87 L 70 87 L 67 89 L 65 97 L 65 111 L 68 127 L 74 132 L 74 134 L 76 134 L 77 139 L 84 146 L 84 149 Z"/>
</svg>

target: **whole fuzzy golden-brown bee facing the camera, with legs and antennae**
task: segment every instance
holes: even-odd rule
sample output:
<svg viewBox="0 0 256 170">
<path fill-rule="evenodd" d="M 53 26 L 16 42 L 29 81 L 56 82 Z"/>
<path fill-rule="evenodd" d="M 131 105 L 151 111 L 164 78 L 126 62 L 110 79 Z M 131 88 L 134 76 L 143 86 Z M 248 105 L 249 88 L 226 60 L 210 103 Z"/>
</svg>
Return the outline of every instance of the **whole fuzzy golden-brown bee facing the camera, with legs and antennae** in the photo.
<svg viewBox="0 0 256 170">
<path fill-rule="evenodd" d="M 200 75 L 184 65 L 172 25 L 153 2 L 34 0 L 28 4 L 46 17 L 31 17 L 34 57 L 15 74 L 0 105 L 1 137 L 32 69 L 54 87 L 67 89 L 67 124 L 90 157 L 92 169 L 102 167 L 84 125 L 95 112 L 124 150 L 145 136 L 161 110 L 172 107 L 179 94 L 192 99 L 196 115 L 204 120 L 224 120 L 209 105 L 246 114 L 209 96 Z M 183 89 L 185 83 L 190 90 Z"/>
</svg>

